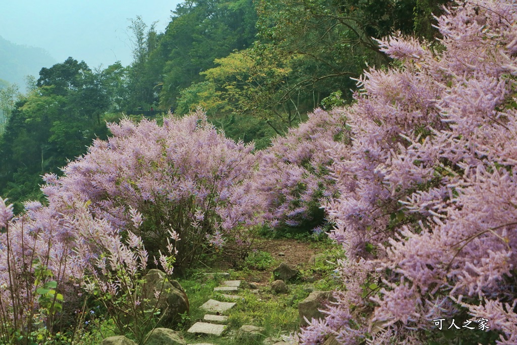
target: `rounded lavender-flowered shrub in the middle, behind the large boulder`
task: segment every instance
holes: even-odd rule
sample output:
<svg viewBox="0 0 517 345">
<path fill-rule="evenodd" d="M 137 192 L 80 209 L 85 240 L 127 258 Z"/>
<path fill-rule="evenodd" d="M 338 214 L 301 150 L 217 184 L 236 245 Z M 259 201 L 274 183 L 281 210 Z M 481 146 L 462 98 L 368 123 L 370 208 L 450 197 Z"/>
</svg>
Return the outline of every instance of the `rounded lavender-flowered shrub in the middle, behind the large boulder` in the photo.
<svg viewBox="0 0 517 345">
<path fill-rule="evenodd" d="M 78 198 L 95 218 L 141 236 L 152 256 L 165 252 L 168 231 L 183 241 L 175 265 L 199 260 L 207 247 L 225 253 L 250 245 L 258 197 L 250 173 L 260 154 L 226 139 L 202 113 L 166 117 L 160 126 L 128 119 L 110 124 L 113 137 L 96 140 L 70 162 L 65 175 L 48 175 L 42 190 L 52 202 Z"/>
</svg>

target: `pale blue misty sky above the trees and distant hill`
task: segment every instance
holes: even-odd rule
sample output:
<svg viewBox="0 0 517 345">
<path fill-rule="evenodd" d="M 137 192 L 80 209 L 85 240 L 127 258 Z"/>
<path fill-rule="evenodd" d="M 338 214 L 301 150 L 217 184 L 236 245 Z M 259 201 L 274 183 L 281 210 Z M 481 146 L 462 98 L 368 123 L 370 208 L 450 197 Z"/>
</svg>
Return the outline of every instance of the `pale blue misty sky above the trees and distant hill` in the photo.
<svg viewBox="0 0 517 345">
<path fill-rule="evenodd" d="M 180 0 L 0 0 L 0 36 L 68 56 L 89 67 L 132 61 L 128 18 L 141 16 L 163 32 Z M 41 66 L 50 67 L 50 66 Z"/>
</svg>

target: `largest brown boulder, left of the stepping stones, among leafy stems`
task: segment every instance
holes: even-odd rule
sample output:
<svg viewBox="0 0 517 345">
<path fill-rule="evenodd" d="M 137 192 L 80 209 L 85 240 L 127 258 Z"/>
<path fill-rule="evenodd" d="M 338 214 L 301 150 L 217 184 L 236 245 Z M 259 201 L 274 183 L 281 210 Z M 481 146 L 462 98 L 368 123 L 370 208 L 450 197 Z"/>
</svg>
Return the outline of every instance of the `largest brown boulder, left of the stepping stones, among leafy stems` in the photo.
<svg viewBox="0 0 517 345">
<path fill-rule="evenodd" d="M 161 291 L 161 293 L 160 293 Z M 155 292 L 160 293 L 159 297 Z M 148 299 L 147 308 L 157 305 L 162 312 L 161 325 L 169 326 L 181 321 L 179 314 L 190 311 L 189 299 L 185 290 L 176 280 L 171 280 L 159 269 L 151 269 L 145 276 L 142 297 Z"/>
</svg>

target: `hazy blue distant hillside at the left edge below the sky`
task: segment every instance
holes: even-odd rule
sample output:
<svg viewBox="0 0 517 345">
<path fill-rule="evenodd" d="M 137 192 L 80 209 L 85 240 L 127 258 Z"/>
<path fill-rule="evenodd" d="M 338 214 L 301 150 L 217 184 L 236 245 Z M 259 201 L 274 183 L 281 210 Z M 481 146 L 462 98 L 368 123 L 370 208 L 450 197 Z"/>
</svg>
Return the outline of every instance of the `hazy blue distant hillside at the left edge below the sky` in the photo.
<svg viewBox="0 0 517 345">
<path fill-rule="evenodd" d="M 21 46 L 0 37 L 0 79 L 25 86 L 23 77 L 38 76 L 42 67 L 51 67 L 55 59 L 42 48 Z"/>
</svg>

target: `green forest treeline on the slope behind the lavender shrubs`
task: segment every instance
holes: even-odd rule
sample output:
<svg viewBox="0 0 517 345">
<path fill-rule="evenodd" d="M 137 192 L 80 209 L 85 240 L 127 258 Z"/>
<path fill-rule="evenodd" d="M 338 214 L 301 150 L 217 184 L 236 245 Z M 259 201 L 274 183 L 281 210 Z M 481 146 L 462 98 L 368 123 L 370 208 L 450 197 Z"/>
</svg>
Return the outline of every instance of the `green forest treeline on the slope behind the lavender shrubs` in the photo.
<svg viewBox="0 0 517 345">
<path fill-rule="evenodd" d="M 431 40 L 446 0 L 200 0 L 172 11 L 163 33 L 130 20 L 133 62 L 92 68 L 69 57 L 0 87 L 0 194 L 41 200 L 41 175 L 60 173 L 109 135 L 124 112 L 202 108 L 227 137 L 257 149 L 317 107 L 352 101 L 354 78 L 390 59 L 376 38 Z"/>
</svg>

